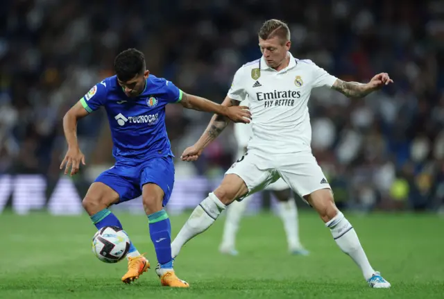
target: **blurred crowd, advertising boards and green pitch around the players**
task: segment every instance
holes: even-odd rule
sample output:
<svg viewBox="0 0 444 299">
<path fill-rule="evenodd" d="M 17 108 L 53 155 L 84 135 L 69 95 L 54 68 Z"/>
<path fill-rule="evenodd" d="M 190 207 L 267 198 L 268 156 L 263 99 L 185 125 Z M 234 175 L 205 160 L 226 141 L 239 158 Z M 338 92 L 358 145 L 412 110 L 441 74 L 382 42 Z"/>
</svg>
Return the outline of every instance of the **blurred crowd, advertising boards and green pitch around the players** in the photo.
<svg viewBox="0 0 444 299">
<path fill-rule="evenodd" d="M 309 102 L 314 154 L 392 289 L 368 289 L 300 200 L 301 241 L 310 255 L 288 255 L 267 193 L 249 210 L 264 212 L 242 220 L 239 257 L 218 254 L 223 220 L 182 250 L 174 266 L 189 290 L 160 288 L 154 271 L 123 286 L 125 262 L 104 264 L 92 255 L 94 226 L 80 205 L 90 182 L 114 163 L 105 114 L 78 124 L 87 166 L 73 178 L 59 169 L 63 115 L 112 75 L 114 56 L 130 47 L 145 53 L 153 74 L 221 103 L 237 68 L 259 57 L 257 29 L 272 17 L 289 23 L 296 57 L 343 80 L 366 82 L 386 71 L 395 81 L 364 100 L 316 89 Z M 443 19 L 443 1 L 1 1 L 0 298 L 443 298 Z M 210 117 L 167 106 L 176 156 Z M 235 153 L 227 128 L 198 162 L 176 159 L 173 237 L 189 216 L 184 210 L 220 182 Z M 140 201 L 119 209 L 154 268 Z"/>
</svg>

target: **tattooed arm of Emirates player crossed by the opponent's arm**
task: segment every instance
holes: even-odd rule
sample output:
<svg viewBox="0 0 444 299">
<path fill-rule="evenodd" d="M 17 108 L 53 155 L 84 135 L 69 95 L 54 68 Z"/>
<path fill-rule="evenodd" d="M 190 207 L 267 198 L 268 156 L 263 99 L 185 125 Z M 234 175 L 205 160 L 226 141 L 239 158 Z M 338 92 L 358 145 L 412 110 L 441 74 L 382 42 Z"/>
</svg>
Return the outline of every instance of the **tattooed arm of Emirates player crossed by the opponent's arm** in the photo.
<svg viewBox="0 0 444 299">
<path fill-rule="evenodd" d="M 230 99 L 227 96 L 222 105 L 228 108 L 239 107 L 239 103 L 239 101 Z M 220 114 L 214 114 L 207 126 L 207 129 L 202 136 L 200 136 L 196 144 L 186 148 L 180 156 L 180 159 L 182 159 L 182 161 L 189 162 L 198 160 L 198 157 L 202 153 L 203 149 L 222 133 L 222 131 L 228 126 L 228 123 L 230 123 L 230 119 L 228 119 L 228 117 L 224 117 Z"/>
</svg>

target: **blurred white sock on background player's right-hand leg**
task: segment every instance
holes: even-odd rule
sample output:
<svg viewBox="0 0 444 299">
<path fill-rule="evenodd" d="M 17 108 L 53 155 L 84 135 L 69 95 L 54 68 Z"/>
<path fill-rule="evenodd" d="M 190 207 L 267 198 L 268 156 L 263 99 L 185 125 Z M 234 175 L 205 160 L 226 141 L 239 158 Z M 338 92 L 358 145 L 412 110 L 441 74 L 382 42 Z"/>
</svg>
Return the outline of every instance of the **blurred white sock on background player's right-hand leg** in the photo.
<svg viewBox="0 0 444 299">
<path fill-rule="evenodd" d="M 278 212 L 280 219 L 282 219 L 282 222 L 284 223 L 289 250 L 301 248 L 302 246 L 300 245 L 299 239 L 298 208 L 296 207 L 294 198 L 289 198 L 286 202 L 278 202 Z"/>
</svg>

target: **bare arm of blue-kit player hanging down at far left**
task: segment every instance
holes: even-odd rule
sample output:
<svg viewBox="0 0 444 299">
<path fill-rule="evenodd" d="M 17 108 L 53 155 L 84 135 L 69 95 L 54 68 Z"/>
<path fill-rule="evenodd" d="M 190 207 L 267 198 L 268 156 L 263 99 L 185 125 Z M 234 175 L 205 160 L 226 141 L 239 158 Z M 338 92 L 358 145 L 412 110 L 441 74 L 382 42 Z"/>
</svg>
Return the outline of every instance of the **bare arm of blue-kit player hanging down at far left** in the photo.
<svg viewBox="0 0 444 299">
<path fill-rule="evenodd" d="M 65 165 L 65 174 L 68 174 L 69 167 L 71 166 L 71 176 L 78 172 L 80 167 L 80 161 L 85 165 L 85 156 L 78 147 L 77 141 L 77 121 L 82 117 L 87 116 L 88 112 L 83 108 L 82 103 L 78 101 L 63 117 L 63 131 L 65 132 L 65 138 L 68 143 L 68 151 L 60 164 L 60 169 L 63 169 Z"/>
</svg>

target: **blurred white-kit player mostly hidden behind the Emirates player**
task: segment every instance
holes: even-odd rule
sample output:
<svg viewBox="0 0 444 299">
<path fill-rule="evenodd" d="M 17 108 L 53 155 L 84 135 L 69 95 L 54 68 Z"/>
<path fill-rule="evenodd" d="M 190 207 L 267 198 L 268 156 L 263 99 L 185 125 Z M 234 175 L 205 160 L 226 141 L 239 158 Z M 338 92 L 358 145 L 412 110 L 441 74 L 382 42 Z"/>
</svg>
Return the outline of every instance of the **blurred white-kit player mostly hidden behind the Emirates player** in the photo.
<svg viewBox="0 0 444 299">
<path fill-rule="evenodd" d="M 241 101 L 241 106 L 248 106 L 248 99 Z M 248 140 L 253 136 L 251 123 L 235 123 L 234 137 L 237 142 L 237 157 L 242 157 L 246 153 Z M 309 255 L 309 252 L 302 247 L 299 239 L 298 208 L 292 196 L 291 189 L 287 183 L 279 178 L 268 185 L 266 190 L 273 193 L 278 200 L 277 212 L 284 224 L 284 231 L 287 236 L 288 250 L 291 255 Z M 225 210 L 226 218 L 223 226 L 222 242 L 219 251 L 223 254 L 238 255 L 236 250 L 236 234 L 239 230 L 239 223 L 252 196 L 247 196 L 243 200 L 234 200 Z"/>
</svg>

